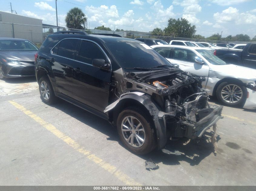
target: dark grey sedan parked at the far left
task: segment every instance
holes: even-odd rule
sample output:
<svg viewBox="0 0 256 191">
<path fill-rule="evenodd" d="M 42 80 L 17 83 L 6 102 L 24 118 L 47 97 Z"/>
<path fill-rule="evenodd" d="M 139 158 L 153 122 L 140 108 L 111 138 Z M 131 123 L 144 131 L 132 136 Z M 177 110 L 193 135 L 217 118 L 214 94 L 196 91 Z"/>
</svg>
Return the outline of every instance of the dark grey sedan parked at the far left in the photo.
<svg viewBox="0 0 256 191">
<path fill-rule="evenodd" d="M 29 40 L 0 38 L 0 79 L 35 76 L 35 53 Z"/>
</svg>

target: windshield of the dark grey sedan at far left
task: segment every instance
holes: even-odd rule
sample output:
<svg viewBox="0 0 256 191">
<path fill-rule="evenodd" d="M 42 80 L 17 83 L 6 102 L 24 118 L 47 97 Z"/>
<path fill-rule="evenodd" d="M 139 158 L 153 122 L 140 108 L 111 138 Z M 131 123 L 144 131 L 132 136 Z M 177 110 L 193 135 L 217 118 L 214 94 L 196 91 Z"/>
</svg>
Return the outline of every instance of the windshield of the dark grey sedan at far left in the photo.
<svg viewBox="0 0 256 191">
<path fill-rule="evenodd" d="M 27 40 L 0 40 L 1 51 L 37 51 L 38 48 Z"/>
</svg>

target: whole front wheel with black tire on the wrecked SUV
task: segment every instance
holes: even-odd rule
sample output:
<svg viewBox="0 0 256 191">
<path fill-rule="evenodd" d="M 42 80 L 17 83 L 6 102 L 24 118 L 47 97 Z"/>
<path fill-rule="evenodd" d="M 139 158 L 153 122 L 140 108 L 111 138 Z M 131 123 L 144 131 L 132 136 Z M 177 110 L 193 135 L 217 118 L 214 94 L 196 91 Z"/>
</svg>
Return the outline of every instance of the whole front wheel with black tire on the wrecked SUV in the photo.
<svg viewBox="0 0 256 191">
<path fill-rule="evenodd" d="M 117 130 L 121 142 L 135 154 L 147 154 L 156 147 L 150 117 L 139 107 L 127 107 L 119 114 Z"/>
</svg>

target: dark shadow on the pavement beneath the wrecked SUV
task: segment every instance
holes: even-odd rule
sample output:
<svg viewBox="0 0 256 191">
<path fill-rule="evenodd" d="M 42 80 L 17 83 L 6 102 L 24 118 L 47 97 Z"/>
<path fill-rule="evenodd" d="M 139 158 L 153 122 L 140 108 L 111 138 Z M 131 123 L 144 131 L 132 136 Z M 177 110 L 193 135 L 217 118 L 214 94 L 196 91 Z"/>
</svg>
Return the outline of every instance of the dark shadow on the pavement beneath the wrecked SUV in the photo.
<svg viewBox="0 0 256 191">
<path fill-rule="evenodd" d="M 81 121 L 82 123 L 96 129 L 99 132 L 104 133 L 109 138 L 107 140 L 117 141 L 123 148 L 124 145 L 121 143 L 117 130 L 106 120 L 95 116 L 79 107 L 72 105 L 64 100 L 59 100 L 59 103 L 51 105 L 58 110 L 65 112 L 66 114 L 74 117 L 75 119 Z M 167 150 L 172 152 L 180 151 L 181 155 L 166 154 L 161 150 L 152 151 L 146 155 L 138 155 L 138 157 L 147 161 L 151 158 L 155 163 L 163 163 L 166 165 L 178 165 L 179 161 L 186 161 L 191 166 L 198 165 L 205 157 L 214 152 L 214 147 L 211 144 L 212 131 L 206 132 L 206 134 L 199 140 L 189 140 L 187 138 L 181 138 L 178 140 L 170 140 L 166 144 Z M 220 140 L 217 137 L 217 141 Z M 126 148 L 125 148 L 126 149 Z"/>
</svg>

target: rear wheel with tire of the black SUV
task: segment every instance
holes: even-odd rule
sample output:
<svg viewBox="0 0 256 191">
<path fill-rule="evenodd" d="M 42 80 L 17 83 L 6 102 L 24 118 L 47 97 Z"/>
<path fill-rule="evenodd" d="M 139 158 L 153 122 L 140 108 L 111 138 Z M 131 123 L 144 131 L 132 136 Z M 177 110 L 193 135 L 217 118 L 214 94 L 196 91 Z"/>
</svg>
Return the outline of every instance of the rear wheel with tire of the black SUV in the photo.
<svg viewBox="0 0 256 191">
<path fill-rule="evenodd" d="M 56 102 L 57 97 L 52 89 L 52 84 L 45 76 L 39 80 L 39 92 L 43 102 L 49 105 Z"/>
</svg>

